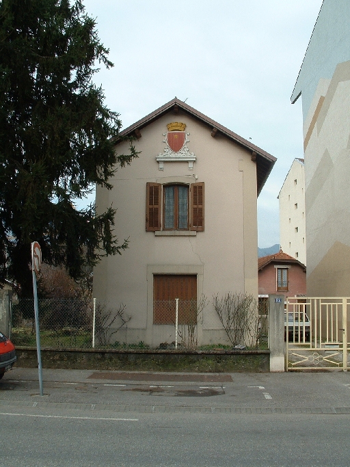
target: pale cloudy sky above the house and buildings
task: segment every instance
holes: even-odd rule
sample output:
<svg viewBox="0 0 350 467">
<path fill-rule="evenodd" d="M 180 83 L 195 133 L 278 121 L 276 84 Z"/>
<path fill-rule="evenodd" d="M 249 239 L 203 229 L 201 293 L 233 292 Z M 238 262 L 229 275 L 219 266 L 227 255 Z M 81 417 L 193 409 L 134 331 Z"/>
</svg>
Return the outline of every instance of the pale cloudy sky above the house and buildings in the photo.
<svg viewBox="0 0 350 467">
<path fill-rule="evenodd" d="M 280 243 L 278 194 L 304 157 L 291 94 L 321 4 L 83 0 L 114 64 L 94 82 L 124 129 L 176 96 L 278 159 L 258 198 L 260 248 Z"/>
</svg>

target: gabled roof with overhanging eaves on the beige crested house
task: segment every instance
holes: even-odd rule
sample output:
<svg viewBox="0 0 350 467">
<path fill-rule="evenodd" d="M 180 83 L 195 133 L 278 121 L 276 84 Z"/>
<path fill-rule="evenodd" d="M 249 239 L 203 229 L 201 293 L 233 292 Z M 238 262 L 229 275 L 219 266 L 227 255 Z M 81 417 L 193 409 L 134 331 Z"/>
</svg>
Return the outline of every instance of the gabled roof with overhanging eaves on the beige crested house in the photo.
<svg viewBox="0 0 350 467">
<path fill-rule="evenodd" d="M 233 131 L 227 129 L 225 126 L 222 126 L 221 124 L 215 122 L 215 120 L 212 120 L 204 114 L 201 114 L 198 110 L 193 109 L 193 107 L 190 107 L 183 101 L 180 101 L 180 99 L 178 98 L 172 99 L 172 101 L 168 102 L 162 107 L 159 107 L 159 109 L 154 110 L 151 114 L 148 114 L 148 116 L 142 118 L 138 122 L 135 122 L 128 128 L 124 129 L 120 132 L 120 136 L 125 137 L 130 135 L 136 135 L 136 137 L 140 137 L 140 131 L 145 126 L 154 122 L 154 120 L 157 120 L 164 114 L 170 113 L 171 111 L 174 114 L 177 114 L 179 109 L 185 114 L 189 114 L 193 118 L 196 118 L 197 120 L 200 120 L 204 124 L 208 125 L 209 129 L 211 129 L 213 137 L 215 137 L 215 135 L 219 133 L 228 137 L 228 139 L 231 139 L 232 141 L 236 142 L 240 146 L 243 146 L 243 148 L 251 152 L 252 159 L 256 160 L 256 183 L 258 194 L 260 194 L 260 191 L 264 186 L 265 181 L 267 181 L 267 177 L 269 176 L 273 165 L 277 159 L 268 152 L 265 152 L 264 150 L 259 148 L 258 146 L 255 146 L 255 144 L 252 144 L 251 142 L 247 141 L 247 139 L 244 139 L 236 133 L 233 133 Z"/>
</svg>

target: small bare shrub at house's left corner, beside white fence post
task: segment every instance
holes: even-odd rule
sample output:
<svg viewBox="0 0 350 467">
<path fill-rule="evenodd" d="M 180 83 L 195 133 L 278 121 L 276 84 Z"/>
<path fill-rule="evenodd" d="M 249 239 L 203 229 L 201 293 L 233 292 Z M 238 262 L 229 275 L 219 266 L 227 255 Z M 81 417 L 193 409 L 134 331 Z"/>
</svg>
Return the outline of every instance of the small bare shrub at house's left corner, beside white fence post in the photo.
<svg viewBox="0 0 350 467">
<path fill-rule="evenodd" d="M 111 337 L 131 320 L 131 316 L 125 314 L 125 308 L 124 304 L 117 310 L 107 308 L 106 304 L 96 304 L 95 334 L 100 346 L 110 345 Z"/>
</svg>

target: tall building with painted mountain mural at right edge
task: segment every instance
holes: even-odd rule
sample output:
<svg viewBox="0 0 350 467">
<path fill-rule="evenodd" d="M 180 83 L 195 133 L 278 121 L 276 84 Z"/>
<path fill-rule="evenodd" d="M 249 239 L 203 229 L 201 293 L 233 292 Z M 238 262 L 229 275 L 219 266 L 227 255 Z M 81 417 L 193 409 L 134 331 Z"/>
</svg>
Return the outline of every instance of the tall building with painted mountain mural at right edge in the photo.
<svg viewBox="0 0 350 467">
<path fill-rule="evenodd" d="M 324 0 L 291 96 L 304 120 L 307 293 L 350 296 L 350 2 Z"/>
</svg>

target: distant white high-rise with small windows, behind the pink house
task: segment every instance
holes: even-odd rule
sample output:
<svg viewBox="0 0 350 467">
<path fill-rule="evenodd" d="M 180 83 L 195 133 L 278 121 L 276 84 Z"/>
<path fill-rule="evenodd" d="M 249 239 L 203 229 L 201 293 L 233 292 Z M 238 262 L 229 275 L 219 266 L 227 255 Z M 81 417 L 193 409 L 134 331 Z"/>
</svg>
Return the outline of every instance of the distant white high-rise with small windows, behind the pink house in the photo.
<svg viewBox="0 0 350 467">
<path fill-rule="evenodd" d="M 304 159 L 294 159 L 278 195 L 280 247 L 306 265 Z"/>
</svg>

